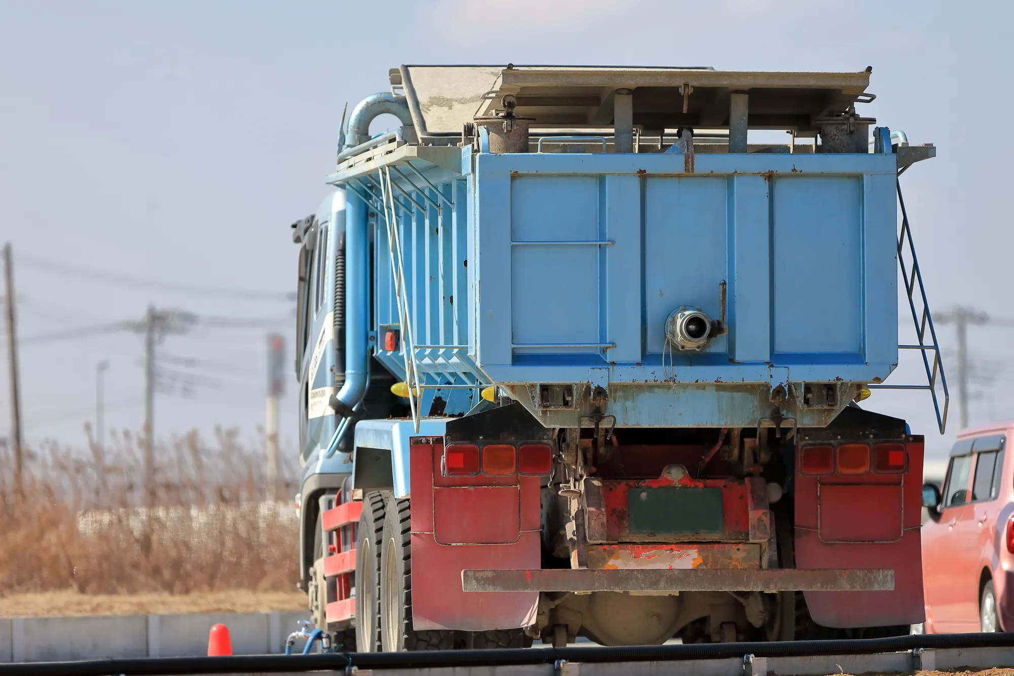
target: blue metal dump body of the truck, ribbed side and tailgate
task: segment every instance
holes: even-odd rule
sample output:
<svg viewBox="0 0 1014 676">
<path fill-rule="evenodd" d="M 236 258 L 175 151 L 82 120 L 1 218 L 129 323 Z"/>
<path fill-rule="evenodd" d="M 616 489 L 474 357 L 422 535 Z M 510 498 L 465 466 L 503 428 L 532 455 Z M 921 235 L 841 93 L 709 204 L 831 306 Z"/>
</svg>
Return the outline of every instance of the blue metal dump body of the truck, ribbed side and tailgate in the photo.
<svg viewBox="0 0 1014 676">
<path fill-rule="evenodd" d="M 580 424 L 587 392 L 548 410 L 535 386 L 588 390 L 596 369 L 620 426 L 755 425 L 778 385 L 787 415 L 819 425 L 849 387 L 885 380 L 898 353 L 890 147 L 699 154 L 693 174 L 684 166 L 679 153 L 401 145 L 331 177 L 370 202 L 377 336 L 403 328 L 391 262 L 404 266 L 420 414 L 435 396 L 463 412 L 478 401 L 466 388 L 496 384 L 545 424 Z M 722 282 L 727 334 L 672 350 L 666 318 L 683 306 L 719 317 Z M 406 342 L 373 347 L 401 378 Z M 841 402 L 804 406 L 804 383 L 840 384 Z"/>
</svg>

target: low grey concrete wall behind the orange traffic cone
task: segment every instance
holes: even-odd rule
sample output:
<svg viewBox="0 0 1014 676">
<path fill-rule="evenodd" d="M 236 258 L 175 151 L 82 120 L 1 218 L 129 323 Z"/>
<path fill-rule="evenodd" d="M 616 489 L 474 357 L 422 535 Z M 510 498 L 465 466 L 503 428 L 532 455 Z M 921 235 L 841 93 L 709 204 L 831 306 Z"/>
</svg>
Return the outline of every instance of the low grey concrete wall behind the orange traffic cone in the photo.
<svg viewBox="0 0 1014 676">
<path fill-rule="evenodd" d="M 206 655 L 208 632 L 229 627 L 234 655 L 285 652 L 305 612 L 95 615 L 0 619 L 0 663 Z M 295 650 L 302 651 L 297 643 Z"/>
</svg>

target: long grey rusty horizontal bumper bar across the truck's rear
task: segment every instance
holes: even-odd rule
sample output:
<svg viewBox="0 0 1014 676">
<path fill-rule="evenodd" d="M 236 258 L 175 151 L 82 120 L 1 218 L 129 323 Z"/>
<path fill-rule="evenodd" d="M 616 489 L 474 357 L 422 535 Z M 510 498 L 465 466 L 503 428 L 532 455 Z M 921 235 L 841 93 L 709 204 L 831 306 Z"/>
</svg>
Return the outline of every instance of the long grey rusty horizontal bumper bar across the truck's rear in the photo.
<svg viewBox="0 0 1014 676">
<path fill-rule="evenodd" d="M 890 592 L 894 570 L 462 570 L 465 592 Z"/>
</svg>

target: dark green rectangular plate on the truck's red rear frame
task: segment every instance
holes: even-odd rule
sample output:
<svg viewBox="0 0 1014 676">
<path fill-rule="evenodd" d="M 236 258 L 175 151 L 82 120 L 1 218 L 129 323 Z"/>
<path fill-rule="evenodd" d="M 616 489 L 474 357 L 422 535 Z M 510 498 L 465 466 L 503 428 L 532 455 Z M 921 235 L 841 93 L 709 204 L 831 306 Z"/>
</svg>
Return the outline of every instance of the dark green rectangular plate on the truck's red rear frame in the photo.
<svg viewBox="0 0 1014 676">
<path fill-rule="evenodd" d="M 641 535 L 721 534 L 721 488 L 630 488 L 630 532 Z"/>
</svg>

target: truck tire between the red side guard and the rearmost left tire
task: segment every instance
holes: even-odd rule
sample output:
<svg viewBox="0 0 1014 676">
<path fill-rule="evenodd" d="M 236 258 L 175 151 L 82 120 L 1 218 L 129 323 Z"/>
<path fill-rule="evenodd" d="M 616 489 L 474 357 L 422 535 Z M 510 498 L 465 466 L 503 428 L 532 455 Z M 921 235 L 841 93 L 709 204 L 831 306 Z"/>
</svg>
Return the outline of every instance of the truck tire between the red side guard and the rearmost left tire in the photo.
<svg viewBox="0 0 1014 676">
<path fill-rule="evenodd" d="M 383 542 L 384 496 L 363 496 L 363 513 L 356 531 L 356 650 L 380 650 L 380 548 Z"/>
</svg>

